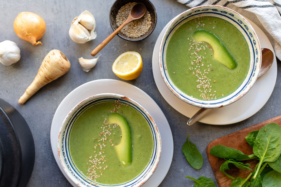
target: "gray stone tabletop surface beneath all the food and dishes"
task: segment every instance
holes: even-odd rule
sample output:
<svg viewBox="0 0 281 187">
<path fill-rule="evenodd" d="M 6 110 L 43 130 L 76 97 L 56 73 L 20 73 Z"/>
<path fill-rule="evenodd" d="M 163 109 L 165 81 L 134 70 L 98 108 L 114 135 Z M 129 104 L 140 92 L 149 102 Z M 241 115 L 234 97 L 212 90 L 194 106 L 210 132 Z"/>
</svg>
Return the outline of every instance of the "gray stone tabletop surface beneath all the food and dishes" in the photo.
<svg viewBox="0 0 281 187">
<path fill-rule="evenodd" d="M 0 98 L 12 104 L 26 119 L 32 131 L 36 159 L 34 170 L 27 186 L 71 186 L 59 170 L 50 144 L 50 128 L 53 115 L 62 99 L 79 85 L 96 79 L 119 79 L 111 71 L 111 65 L 121 53 L 137 51 L 143 58 L 141 75 L 133 84 L 152 97 L 166 115 L 173 133 L 174 155 L 168 174 L 160 186 L 192 186 L 186 175 L 198 178 L 201 175 L 215 180 L 206 155 L 206 146 L 216 138 L 239 129 L 249 127 L 281 114 L 281 63 L 277 63 L 277 81 L 274 91 L 265 106 L 252 117 L 232 125 L 214 126 L 197 122 L 186 126 L 189 119 L 178 113 L 159 93 L 152 74 L 152 51 L 162 28 L 176 15 L 188 9 L 174 0 L 151 0 L 157 10 L 158 21 L 154 32 L 139 42 L 125 41 L 116 36 L 100 53 L 102 54 L 94 70 L 81 70 L 77 58 L 90 58 L 90 52 L 101 43 L 112 29 L 109 25 L 109 10 L 114 0 L 95 1 L 2 1 L 0 5 L 0 41 L 11 40 L 21 49 L 21 60 L 13 67 L 0 64 Z M 72 19 L 84 10 L 90 11 L 96 19 L 97 38 L 86 44 L 73 42 L 68 30 Z M 46 34 L 40 40 L 43 46 L 32 46 L 22 41 L 13 31 L 13 21 L 19 12 L 29 11 L 39 14 L 46 22 Z M 40 89 L 24 105 L 17 100 L 32 82 L 45 55 L 52 49 L 61 50 L 71 62 L 71 69 L 61 78 Z M 181 151 L 187 135 L 199 148 L 204 158 L 200 170 L 193 169 Z"/>
</svg>

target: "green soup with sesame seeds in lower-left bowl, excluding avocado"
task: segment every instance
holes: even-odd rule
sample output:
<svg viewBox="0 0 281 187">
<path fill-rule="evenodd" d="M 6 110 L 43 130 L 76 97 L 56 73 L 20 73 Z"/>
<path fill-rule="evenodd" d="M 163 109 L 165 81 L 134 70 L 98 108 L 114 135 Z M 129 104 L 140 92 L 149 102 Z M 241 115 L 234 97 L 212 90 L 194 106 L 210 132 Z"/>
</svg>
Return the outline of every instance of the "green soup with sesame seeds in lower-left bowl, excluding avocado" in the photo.
<svg viewBox="0 0 281 187">
<path fill-rule="evenodd" d="M 131 129 L 132 163 L 127 167 L 120 163 L 114 149 L 121 141 L 121 129 L 106 123 L 107 115 L 112 112 L 122 114 Z M 70 132 L 69 151 L 76 168 L 89 180 L 118 185 L 134 179 L 148 165 L 153 137 L 140 112 L 131 106 L 108 101 L 87 108 L 76 119 Z"/>
</svg>

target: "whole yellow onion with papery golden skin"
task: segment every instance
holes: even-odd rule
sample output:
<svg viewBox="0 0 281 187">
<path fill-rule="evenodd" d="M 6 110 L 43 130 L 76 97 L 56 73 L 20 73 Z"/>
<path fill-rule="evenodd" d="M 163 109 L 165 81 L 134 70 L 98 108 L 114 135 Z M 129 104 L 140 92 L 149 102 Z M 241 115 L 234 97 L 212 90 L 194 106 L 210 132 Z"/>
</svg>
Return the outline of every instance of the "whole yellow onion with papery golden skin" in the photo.
<svg viewBox="0 0 281 187">
<path fill-rule="evenodd" d="M 42 17 L 32 12 L 21 12 L 14 21 L 14 30 L 20 39 L 29 41 L 32 45 L 42 45 L 41 39 L 46 31 Z"/>
</svg>

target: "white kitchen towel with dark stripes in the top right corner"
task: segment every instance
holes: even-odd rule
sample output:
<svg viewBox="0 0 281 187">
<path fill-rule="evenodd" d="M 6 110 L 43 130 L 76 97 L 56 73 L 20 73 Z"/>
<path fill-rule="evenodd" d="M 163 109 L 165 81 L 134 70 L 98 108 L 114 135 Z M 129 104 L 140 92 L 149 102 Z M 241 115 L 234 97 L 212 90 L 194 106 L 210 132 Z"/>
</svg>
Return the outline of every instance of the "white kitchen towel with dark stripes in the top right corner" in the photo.
<svg viewBox="0 0 281 187">
<path fill-rule="evenodd" d="M 188 7 L 220 5 L 256 23 L 269 38 L 276 57 L 281 60 L 281 0 L 176 0 Z"/>
</svg>

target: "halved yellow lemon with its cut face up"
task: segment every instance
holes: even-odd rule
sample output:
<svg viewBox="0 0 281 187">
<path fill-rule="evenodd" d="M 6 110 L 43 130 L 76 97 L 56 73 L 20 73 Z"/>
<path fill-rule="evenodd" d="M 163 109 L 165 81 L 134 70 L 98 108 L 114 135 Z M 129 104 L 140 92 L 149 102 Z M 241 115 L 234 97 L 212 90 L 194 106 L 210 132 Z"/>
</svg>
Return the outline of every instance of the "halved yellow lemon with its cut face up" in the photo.
<svg viewBox="0 0 281 187">
<path fill-rule="evenodd" d="M 136 79 L 141 74 L 141 70 L 141 55 L 135 51 L 122 53 L 112 65 L 113 73 L 124 80 Z"/>
</svg>

